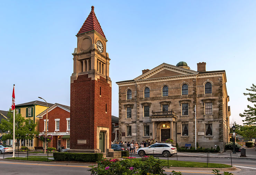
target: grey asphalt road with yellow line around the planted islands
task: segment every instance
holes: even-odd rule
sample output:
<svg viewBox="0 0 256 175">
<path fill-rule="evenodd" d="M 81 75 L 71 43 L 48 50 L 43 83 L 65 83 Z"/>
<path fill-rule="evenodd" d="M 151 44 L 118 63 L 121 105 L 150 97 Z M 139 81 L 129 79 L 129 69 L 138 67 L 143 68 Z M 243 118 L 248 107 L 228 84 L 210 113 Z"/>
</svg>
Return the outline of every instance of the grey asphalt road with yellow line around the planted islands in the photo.
<svg viewBox="0 0 256 175">
<path fill-rule="evenodd" d="M 5 154 L 4 157 L 11 157 L 10 154 Z M 25 157 L 26 155 L 20 155 Z M 38 155 L 38 156 L 42 156 Z M 132 155 L 133 157 L 140 158 L 138 155 Z M 3 155 L 0 155 L 0 158 Z M 160 159 L 167 159 L 163 156 L 159 156 Z M 169 160 L 176 160 L 176 157 L 169 157 Z M 179 161 L 194 161 L 194 162 L 206 162 L 205 157 L 178 157 Z M 222 163 L 231 165 L 230 158 L 210 158 L 210 163 Z M 229 171 L 234 174 L 248 174 L 254 175 L 256 174 L 256 160 L 254 159 L 239 159 L 232 158 L 232 164 L 241 168 L 241 171 Z M 27 175 L 35 175 L 35 174 L 55 174 L 55 175 L 65 175 L 65 174 L 90 174 L 87 170 L 90 164 L 63 164 L 63 163 L 36 163 L 36 162 L 24 162 L 24 161 L 8 161 L 0 159 L 1 174 L 27 174 Z M 172 169 L 166 169 L 165 174 L 172 174 Z M 211 174 L 211 171 L 192 171 L 192 170 L 184 170 L 179 169 L 175 171 L 181 171 L 183 175 L 196 175 L 196 174 Z"/>
</svg>

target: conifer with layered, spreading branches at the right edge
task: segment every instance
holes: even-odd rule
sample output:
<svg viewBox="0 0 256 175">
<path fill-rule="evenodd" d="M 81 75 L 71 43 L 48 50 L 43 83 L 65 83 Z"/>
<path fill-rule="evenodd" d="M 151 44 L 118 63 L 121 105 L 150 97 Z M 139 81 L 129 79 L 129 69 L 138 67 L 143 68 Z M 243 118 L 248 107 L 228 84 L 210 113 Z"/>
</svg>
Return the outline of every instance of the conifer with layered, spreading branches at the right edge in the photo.
<svg viewBox="0 0 256 175">
<path fill-rule="evenodd" d="M 253 84 L 250 89 L 246 88 L 249 93 L 244 93 L 244 95 L 249 95 L 247 100 L 253 103 L 253 106 L 247 105 L 248 109 L 245 109 L 243 114 L 239 114 L 241 117 L 245 117 L 243 120 L 245 125 L 254 125 L 256 127 L 256 86 Z"/>
</svg>

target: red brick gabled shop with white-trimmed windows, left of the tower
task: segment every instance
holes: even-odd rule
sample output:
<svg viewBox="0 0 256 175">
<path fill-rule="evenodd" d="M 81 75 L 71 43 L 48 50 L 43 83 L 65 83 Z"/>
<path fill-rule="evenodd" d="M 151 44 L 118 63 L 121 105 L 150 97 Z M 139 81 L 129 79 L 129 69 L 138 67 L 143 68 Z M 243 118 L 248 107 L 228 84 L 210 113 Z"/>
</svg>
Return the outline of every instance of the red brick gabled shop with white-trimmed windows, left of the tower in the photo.
<svg viewBox="0 0 256 175">
<path fill-rule="evenodd" d="M 45 134 L 46 110 L 37 116 L 39 118 L 39 136 Z M 70 148 L 70 107 L 55 103 L 48 108 L 47 135 L 53 135 L 52 142 L 47 147 Z M 39 140 L 38 146 L 44 143 Z"/>
</svg>

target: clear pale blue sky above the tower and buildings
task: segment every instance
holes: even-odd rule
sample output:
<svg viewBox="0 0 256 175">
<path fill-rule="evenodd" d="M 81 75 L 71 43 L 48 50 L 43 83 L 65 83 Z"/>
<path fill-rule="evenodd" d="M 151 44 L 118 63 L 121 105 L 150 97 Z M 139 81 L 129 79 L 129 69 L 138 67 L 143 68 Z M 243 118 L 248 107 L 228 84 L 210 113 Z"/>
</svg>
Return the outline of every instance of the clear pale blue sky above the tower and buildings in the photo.
<svg viewBox="0 0 256 175">
<path fill-rule="evenodd" d="M 112 115 L 118 86 L 141 70 L 185 61 L 192 70 L 226 70 L 231 118 L 255 82 L 256 1 L 1 1 L 0 110 L 39 100 L 70 105 L 76 33 L 94 6 L 107 42 Z"/>
</svg>

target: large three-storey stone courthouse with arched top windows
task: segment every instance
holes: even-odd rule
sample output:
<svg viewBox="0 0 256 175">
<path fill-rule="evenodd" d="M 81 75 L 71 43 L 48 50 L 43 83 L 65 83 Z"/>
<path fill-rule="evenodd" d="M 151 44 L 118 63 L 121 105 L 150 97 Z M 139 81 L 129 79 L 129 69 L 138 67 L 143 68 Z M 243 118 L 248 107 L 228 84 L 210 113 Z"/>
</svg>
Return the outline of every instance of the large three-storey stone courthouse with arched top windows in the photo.
<svg viewBox="0 0 256 175">
<path fill-rule="evenodd" d="M 172 138 L 179 146 L 196 140 L 201 147 L 223 149 L 229 133 L 230 107 L 225 70 L 191 70 L 185 62 L 163 63 L 119 81 L 119 141 L 158 142 Z"/>
</svg>

